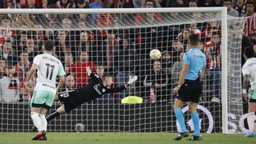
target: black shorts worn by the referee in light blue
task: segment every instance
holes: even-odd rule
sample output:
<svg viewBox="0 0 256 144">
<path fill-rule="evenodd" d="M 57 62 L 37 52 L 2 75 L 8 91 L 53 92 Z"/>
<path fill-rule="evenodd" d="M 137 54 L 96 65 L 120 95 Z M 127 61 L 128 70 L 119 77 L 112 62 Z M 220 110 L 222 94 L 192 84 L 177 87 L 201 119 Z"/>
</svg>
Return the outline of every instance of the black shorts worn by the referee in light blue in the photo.
<svg viewBox="0 0 256 144">
<path fill-rule="evenodd" d="M 183 102 L 195 102 L 198 103 L 202 94 L 202 82 L 199 78 L 195 81 L 185 80 L 180 89 L 178 90 L 178 95 L 176 98 L 182 100 Z"/>
</svg>

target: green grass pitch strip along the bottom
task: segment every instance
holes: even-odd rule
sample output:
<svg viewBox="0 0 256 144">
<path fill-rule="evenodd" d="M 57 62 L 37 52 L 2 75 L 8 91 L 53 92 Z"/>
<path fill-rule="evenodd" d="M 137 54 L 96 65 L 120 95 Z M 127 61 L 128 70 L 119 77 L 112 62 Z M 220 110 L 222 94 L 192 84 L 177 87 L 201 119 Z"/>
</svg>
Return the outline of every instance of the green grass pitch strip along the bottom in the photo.
<svg viewBox="0 0 256 144">
<path fill-rule="evenodd" d="M 46 142 L 30 140 L 36 133 L 0 133 L 0 144 L 53 143 L 53 144 L 170 144 L 190 143 L 186 139 L 174 142 L 173 133 L 47 133 Z M 202 144 L 255 144 L 256 138 L 243 138 L 242 134 L 202 134 Z"/>
</svg>

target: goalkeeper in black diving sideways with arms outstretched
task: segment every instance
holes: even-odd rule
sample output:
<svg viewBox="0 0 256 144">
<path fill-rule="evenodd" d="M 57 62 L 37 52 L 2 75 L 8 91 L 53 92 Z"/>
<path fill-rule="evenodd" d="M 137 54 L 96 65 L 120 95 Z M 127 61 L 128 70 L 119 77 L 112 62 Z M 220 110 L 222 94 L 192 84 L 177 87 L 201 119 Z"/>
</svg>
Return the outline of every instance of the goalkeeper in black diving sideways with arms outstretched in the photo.
<svg viewBox="0 0 256 144">
<path fill-rule="evenodd" d="M 110 86 L 113 83 L 113 77 L 110 74 L 105 74 L 102 78 L 99 78 L 97 74 L 94 74 L 90 70 L 90 67 L 86 67 L 86 71 L 91 78 L 90 82 L 80 90 L 70 90 L 60 93 L 58 98 L 63 105 L 54 113 L 47 116 L 47 122 L 50 122 L 50 120 L 58 117 L 60 114 L 66 114 L 80 106 L 82 103 L 90 102 L 103 94 L 118 93 L 122 90 L 126 90 L 128 86 L 132 85 L 138 79 L 135 75 L 123 86 L 110 89 Z M 35 128 L 33 127 L 33 130 L 34 129 Z"/>
</svg>

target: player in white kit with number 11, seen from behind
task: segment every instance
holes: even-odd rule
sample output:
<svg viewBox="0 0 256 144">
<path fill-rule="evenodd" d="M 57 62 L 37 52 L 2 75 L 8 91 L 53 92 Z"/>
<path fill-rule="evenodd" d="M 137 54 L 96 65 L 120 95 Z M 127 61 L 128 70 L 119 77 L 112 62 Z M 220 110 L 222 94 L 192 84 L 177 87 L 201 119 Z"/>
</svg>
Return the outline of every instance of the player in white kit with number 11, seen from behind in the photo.
<svg viewBox="0 0 256 144">
<path fill-rule="evenodd" d="M 62 62 L 55 58 L 54 42 L 45 42 L 43 54 L 38 54 L 34 58 L 33 65 L 26 78 L 26 86 L 29 86 L 30 80 L 34 77 L 37 70 L 38 78 L 34 88 L 33 98 L 31 100 L 31 118 L 34 126 L 38 128 L 38 134 L 32 140 L 46 140 L 46 113 L 54 102 L 55 94 L 63 86 L 65 82 L 65 71 Z M 60 77 L 56 88 L 56 78 Z"/>
</svg>

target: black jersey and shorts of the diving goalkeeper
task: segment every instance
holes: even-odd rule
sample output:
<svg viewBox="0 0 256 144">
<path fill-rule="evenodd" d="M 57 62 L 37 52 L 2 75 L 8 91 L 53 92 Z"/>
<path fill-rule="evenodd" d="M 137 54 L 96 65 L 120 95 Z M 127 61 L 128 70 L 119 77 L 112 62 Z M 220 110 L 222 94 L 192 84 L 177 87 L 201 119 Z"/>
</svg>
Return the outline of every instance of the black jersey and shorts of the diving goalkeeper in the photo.
<svg viewBox="0 0 256 144">
<path fill-rule="evenodd" d="M 118 93 L 126 89 L 125 85 L 116 88 L 103 86 L 102 78 L 94 73 L 90 74 L 90 78 L 90 82 L 82 89 L 60 94 L 60 100 L 64 103 L 66 112 L 73 110 L 84 102 L 90 102 L 101 97 L 103 94 Z"/>
</svg>

